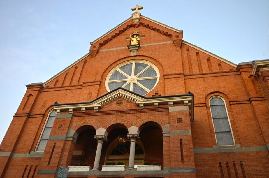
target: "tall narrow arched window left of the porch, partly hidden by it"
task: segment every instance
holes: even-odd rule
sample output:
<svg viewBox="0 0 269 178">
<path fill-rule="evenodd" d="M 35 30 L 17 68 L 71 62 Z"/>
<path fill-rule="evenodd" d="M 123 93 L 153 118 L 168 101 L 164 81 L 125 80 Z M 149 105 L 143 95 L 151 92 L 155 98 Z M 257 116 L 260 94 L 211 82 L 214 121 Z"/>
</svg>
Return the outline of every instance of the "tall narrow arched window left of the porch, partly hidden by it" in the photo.
<svg viewBox="0 0 269 178">
<path fill-rule="evenodd" d="M 56 112 L 53 110 L 52 112 L 50 112 L 50 115 L 45 123 L 45 127 L 42 131 L 41 137 L 36 147 L 36 151 L 45 150 L 55 118 L 56 118 Z"/>
</svg>

